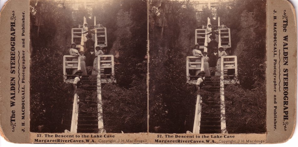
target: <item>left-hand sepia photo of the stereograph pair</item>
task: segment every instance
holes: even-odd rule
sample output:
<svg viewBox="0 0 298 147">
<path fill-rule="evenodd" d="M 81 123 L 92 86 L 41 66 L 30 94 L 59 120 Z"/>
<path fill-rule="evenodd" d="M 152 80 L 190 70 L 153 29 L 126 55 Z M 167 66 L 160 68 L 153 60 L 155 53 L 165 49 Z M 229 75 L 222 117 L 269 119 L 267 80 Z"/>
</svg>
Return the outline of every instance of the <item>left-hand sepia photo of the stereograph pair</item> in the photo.
<svg viewBox="0 0 298 147">
<path fill-rule="evenodd" d="M 30 132 L 147 132 L 147 2 L 30 1 Z"/>
</svg>

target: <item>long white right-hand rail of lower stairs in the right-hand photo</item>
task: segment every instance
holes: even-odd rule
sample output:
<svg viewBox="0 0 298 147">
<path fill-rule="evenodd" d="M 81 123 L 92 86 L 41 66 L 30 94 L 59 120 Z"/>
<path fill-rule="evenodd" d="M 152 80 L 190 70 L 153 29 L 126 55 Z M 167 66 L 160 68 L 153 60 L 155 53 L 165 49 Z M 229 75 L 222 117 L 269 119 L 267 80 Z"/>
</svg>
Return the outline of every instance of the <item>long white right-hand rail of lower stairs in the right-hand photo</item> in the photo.
<svg viewBox="0 0 298 147">
<path fill-rule="evenodd" d="M 221 56 L 221 78 L 220 78 L 220 95 L 221 95 L 221 132 L 227 133 L 226 130 L 226 105 L 225 105 L 225 85 L 224 85 L 224 57 Z"/>
</svg>

